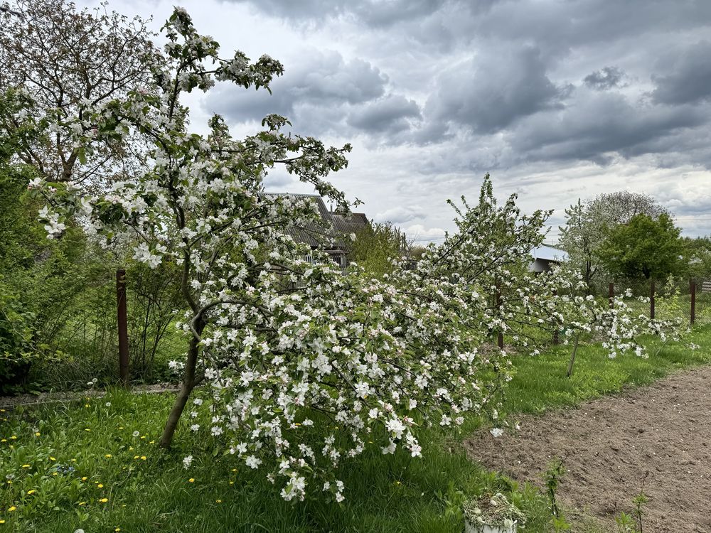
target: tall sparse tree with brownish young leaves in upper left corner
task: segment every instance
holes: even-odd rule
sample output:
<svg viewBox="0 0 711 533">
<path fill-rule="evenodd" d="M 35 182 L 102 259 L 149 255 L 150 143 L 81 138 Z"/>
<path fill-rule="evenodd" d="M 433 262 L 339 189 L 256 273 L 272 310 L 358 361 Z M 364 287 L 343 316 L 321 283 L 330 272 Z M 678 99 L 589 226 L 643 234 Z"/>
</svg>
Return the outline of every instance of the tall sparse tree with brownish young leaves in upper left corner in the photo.
<svg viewBox="0 0 711 533">
<path fill-rule="evenodd" d="M 141 149 L 117 137 L 77 143 L 92 129 L 87 109 L 125 95 L 151 78 L 156 49 L 146 21 L 106 4 L 78 11 L 65 0 L 16 0 L 0 11 L 0 87 L 21 88 L 46 114 L 49 135 L 26 139 L 16 156 L 50 181 L 97 185 L 134 173 Z M 26 111 L 27 112 L 27 111 Z M 0 114 L 11 131 L 22 117 Z"/>
</svg>

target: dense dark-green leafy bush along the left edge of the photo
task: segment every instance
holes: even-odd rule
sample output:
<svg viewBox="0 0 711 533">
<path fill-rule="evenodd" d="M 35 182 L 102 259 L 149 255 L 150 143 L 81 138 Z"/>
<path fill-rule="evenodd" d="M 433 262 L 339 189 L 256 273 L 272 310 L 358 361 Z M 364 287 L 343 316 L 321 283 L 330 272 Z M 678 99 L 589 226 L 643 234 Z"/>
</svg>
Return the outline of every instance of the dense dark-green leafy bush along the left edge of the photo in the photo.
<svg viewBox="0 0 711 533">
<path fill-rule="evenodd" d="M 0 114 L 28 109 L 32 105 L 23 93 L 0 94 Z M 43 125 L 25 115 L 12 129 L 0 124 L 0 392 L 16 390 L 28 379 L 45 340 L 43 325 L 65 304 L 55 296 L 75 285 L 68 272 L 85 245 L 73 222 L 68 221 L 65 239 L 53 241 L 37 220 L 43 203 L 28 194 L 36 169 L 14 156 L 18 146 L 41 138 Z"/>
</svg>

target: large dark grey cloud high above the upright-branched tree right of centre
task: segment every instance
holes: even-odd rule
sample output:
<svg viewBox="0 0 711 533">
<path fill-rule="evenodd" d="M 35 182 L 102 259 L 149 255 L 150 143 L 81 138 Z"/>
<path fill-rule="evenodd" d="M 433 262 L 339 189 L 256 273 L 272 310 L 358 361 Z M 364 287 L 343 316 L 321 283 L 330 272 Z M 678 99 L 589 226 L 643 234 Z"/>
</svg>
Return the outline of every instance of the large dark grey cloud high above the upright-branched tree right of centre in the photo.
<svg viewBox="0 0 711 533">
<path fill-rule="evenodd" d="M 428 119 L 495 133 L 521 117 L 558 107 L 570 90 L 547 77 L 536 48 L 487 52 L 439 77 L 427 102 Z"/>
</svg>

